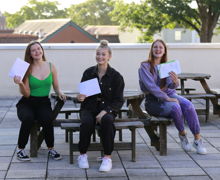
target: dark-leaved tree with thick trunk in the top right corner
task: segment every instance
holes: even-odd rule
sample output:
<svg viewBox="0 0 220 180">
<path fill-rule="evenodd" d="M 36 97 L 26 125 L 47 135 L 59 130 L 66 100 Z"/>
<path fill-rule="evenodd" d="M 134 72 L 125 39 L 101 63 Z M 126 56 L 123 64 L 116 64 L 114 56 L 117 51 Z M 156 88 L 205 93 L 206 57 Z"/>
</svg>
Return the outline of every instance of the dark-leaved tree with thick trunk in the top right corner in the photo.
<svg viewBox="0 0 220 180">
<path fill-rule="evenodd" d="M 220 16 L 220 0 L 152 0 L 152 5 L 169 15 L 171 21 L 194 29 L 201 42 L 211 42 Z"/>
</svg>

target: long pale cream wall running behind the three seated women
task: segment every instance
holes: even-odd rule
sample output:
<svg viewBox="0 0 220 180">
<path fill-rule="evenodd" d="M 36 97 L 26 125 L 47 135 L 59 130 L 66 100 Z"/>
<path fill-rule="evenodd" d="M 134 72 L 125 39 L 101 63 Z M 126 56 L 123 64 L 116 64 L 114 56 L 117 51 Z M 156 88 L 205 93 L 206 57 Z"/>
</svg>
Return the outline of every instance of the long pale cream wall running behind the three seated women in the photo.
<svg viewBox="0 0 220 180">
<path fill-rule="evenodd" d="M 48 61 L 55 64 L 60 87 L 63 90 L 77 90 L 83 71 L 96 64 L 92 44 L 43 44 Z M 139 89 L 138 68 L 147 59 L 150 44 L 110 44 L 112 59 L 110 64 L 124 77 L 126 89 Z M 17 57 L 23 58 L 26 44 L 0 44 L 0 96 L 19 95 L 17 85 L 9 78 L 8 72 Z M 170 60 L 180 61 L 182 72 L 208 73 L 211 88 L 220 88 L 220 43 L 218 44 L 168 44 Z M 203 91 L 199 82 L 186 82 L 186 87 Z"/>
</svg>

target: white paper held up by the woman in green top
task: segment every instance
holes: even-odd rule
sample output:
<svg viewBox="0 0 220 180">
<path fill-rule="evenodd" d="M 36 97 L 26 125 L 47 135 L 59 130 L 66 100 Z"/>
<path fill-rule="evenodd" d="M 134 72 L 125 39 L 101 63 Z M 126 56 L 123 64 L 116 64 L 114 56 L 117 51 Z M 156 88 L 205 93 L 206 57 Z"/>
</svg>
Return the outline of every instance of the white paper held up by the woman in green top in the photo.
<svg viewBox="0 0 220 180">
<path fill-rule="evenodd" d="M 21 79 L 23 79 L 29 65 L 30 64 L 26 61 L 23 61 L 20 58 L 16 58 L 14 64 L 11 67 L 11 70 L 9 71 L 9 76 L 12 78 L 14 78 L 14 76 L 20 76 Z"/>
</svg>

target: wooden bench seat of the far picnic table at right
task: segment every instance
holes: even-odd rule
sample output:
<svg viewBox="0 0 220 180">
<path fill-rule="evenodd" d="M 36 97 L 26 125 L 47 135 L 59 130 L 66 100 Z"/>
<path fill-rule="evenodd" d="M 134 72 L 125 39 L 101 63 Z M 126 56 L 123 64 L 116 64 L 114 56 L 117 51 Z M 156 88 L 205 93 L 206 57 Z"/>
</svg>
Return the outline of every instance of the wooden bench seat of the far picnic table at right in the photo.
<svg viewBox="0 0 220 180">
<path fill-rule="evenodd" d="M 204 99 L 205 100 L 205 109 L 196 109 L 197 113 L 199 115 L 205 115 L 205 121 L 207 122 L 209 119 L 209 100 L 212 98 L 216 98 L 216 96 L 214 94 L 184 94 L 181 95 L 187 99 L 189 99 L 190 101 L 192 99 Z"/>
</svg>

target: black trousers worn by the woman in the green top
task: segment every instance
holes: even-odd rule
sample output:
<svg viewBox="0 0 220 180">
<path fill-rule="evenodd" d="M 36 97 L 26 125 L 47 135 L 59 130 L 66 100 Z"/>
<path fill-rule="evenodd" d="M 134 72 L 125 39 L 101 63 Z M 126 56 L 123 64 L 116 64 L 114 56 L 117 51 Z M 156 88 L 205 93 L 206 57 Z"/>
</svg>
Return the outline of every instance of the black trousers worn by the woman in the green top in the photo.
<svg viewBox="0 0 220 180">
<path fill-rule="evenodd" d="M 18 148 L 25 148 L 30 130 L 35 122 L 38 122 L 43 127 L 47 147 L 53 147 L 54 129 L 50 99 L 48 97 L 22 97 L 16 107 L 18 118 L 21 121 Z"/>
</svg>

